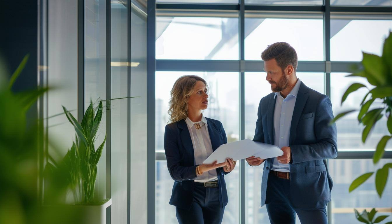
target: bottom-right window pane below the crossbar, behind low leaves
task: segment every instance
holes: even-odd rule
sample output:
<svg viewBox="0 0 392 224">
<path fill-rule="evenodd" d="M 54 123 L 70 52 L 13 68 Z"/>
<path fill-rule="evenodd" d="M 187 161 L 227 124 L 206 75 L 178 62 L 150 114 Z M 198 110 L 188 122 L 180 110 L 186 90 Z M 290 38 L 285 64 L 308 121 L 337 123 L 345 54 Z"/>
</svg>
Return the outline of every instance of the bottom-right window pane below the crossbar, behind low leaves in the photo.
<svg viewBox="0 0 392 224">
<path fill-rule="evenodd" d="M 339 142 L 339 141 L 338 141 Z M 374 175 L 357 189 L 348 193 L 351 182 L 360 175 L 376 171 L 384 164 L 392 162 L 391 159 L 382 159 L 377 167 L 371 159 L 333 159 L 328 160 L 328 171 L 334 186 L 332 188 L 332 223 L 354 224 L 358 223 L 355 218 L 354 208 L 362 212 L 364 208 L 378 208 L 387 212 L 378 212 L 378 215 L 390 215 L 392 207 L 392 175 L 389 175 L 387 185 L 380 199 L 374 185 Z M 367 210 L 369 211 L 369 210 Z M 388 217 L 383 221 L 391 221 Z"/>
</svg>

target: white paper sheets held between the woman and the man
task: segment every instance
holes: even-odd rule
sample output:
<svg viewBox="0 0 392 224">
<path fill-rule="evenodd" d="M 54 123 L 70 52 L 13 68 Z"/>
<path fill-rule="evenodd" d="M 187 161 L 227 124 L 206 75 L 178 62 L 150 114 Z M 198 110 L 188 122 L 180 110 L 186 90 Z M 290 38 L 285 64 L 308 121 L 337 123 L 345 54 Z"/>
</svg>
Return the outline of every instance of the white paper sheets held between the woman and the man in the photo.
<svg viewBox="0 0 392 224">
<path fill-rule="evenodd" d="M 260 158 L 274 158 L 283 155 L 283 151 L 278 147 L 266 143 L 254 142 L 249 138 L 236 142 L 230 142 L 219 146 L 203 164 L 210 164 L 215 160 L 218 163 L 225 162 L 227 158 L 240 160 L 251 156 Z"/>
</svg>

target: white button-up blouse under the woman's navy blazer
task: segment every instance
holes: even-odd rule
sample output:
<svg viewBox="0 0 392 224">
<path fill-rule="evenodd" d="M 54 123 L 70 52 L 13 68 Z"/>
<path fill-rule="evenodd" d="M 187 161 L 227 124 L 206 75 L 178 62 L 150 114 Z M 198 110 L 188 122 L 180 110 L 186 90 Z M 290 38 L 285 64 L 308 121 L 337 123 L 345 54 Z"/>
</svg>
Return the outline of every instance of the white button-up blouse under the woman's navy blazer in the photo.
<svg viewBox="0 0 392 224">
<path fill-rule="evenodd" d="M 201 121 L 193 122 L 189 119 L 189 117 L 187 117 L 185 122 L 187 123 L 189 134 L 192 139 L 194 164 L 203 164 L 203 161 L 212 154 L 212 145 L 207 128 L 207 119 L 201 115 Z M 196 129 L 194 126 L 196 123 L 200 124 L 201 129 Z M 218 180 L 218 175 L 216 174 L 216 169 L 212 169 L 208 172 L 204 172 L 200 176 L 197 176 L 194 181 L 207 182 L 215 180 Z"/>
</svg>

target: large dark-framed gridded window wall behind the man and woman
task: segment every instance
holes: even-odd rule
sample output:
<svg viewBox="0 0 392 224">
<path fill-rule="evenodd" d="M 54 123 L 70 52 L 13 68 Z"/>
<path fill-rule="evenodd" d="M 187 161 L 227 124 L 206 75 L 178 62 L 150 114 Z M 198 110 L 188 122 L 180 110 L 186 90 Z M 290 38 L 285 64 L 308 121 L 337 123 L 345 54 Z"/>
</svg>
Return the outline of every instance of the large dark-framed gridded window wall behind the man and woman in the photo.
<svg viewBox="0 0 392 224">
<path fill-rule="evenodd" d="M 298 78 L 327 94 L 337 115 L 358 105 L 363 97 L 358 91 L 340 105 L 345 89 L 357 81 L 345 77 L 350 66 L 361 61 L 361 51 L 380 55 L 383 39 L 392 29 L 390 0 L 244 1 L 157 0 L 155 223 L 177 222 L 174 206 L 168 204 L 173 180 L 163 151 L 170 90 L 176 78 L 191 74 L 205 78 L 211 99 L 205 116 L 221 120 L 229 142 L 252 139 L 260 99 L 271 92 L 260 57 L 269 44 L 284 41 L 296 49 Z M 356 117 L 338 121 L 339 155 L 328 161 L 334 180 L 328 220 L 333 224 L 357 223 L 353 208 L 391 212 L 391 192 L 385 191 L 379 199 L 371 180 L 348 193 L 354 178 L 376 169 L 372 151 L 387 133 L 380 124 L 362 144 Z M 392 145 L 386 148 L 390 151 Z M 390 162 L 390 153 L 384 158 L 382 164 Z M 238 164 L 225 176 L 229 204 L 223 223 L 269 222 L 265 207 L 260 207 L 262 173 L 262 167 Z M 391 186 L 389 181 L 386 188 Z"/>
</svg>

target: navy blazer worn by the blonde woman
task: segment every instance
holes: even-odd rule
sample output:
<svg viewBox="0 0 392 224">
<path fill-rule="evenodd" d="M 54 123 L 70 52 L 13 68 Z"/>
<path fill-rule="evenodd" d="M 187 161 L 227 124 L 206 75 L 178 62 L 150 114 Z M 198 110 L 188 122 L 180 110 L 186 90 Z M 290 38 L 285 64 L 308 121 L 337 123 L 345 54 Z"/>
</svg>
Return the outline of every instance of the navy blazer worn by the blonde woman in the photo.
<svg viewBox="0 0 392 224">
<path fill-rule="evenodd" d="M 227 143 L 227 137 L 222 123 L 219 120 L 207 119 L 208 133 L 211 139 L 212 151 L 221 144 Z M 194 164 L 194 151 L 187 124 L 180 120 L 166 125 L 164 148 L 167 168 L 174 180 L 172 196 L 169 204 L 183 209 L 191 208 L 193 202 L 193 183 L 196 179 L 196 166 Z M 219 185 L 219 200 L 221 207 L 226 206 L 227 190 L 223 168 L 216 169 Z"/>
</svg>

